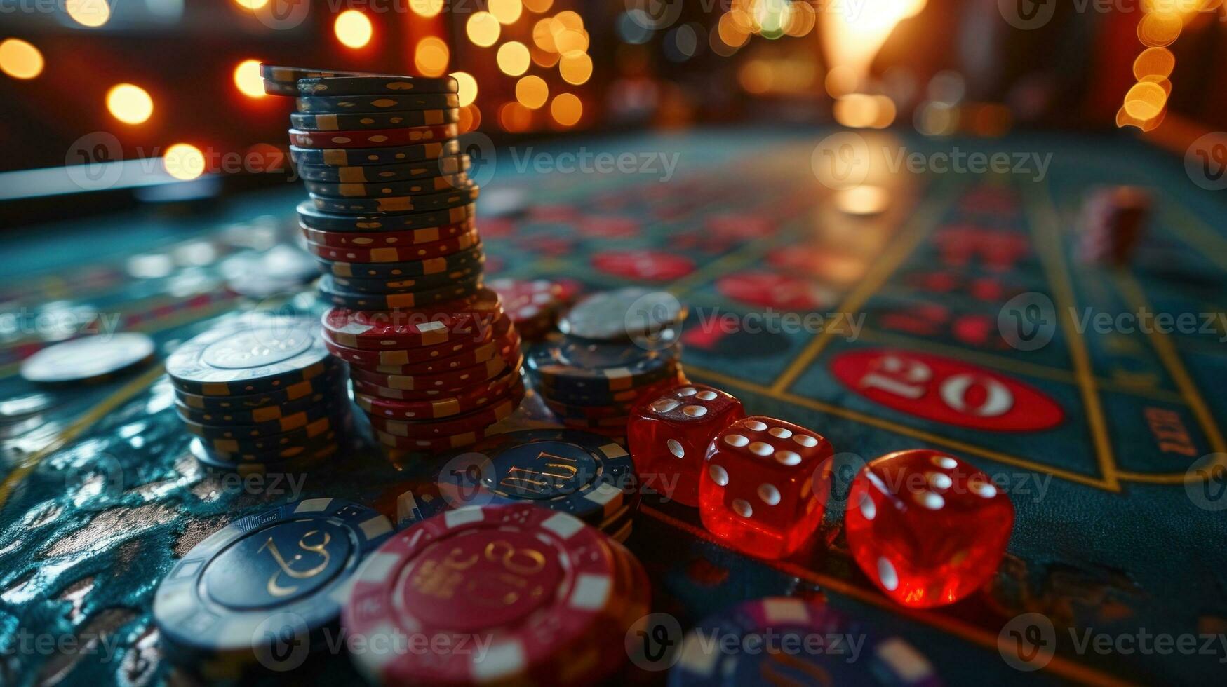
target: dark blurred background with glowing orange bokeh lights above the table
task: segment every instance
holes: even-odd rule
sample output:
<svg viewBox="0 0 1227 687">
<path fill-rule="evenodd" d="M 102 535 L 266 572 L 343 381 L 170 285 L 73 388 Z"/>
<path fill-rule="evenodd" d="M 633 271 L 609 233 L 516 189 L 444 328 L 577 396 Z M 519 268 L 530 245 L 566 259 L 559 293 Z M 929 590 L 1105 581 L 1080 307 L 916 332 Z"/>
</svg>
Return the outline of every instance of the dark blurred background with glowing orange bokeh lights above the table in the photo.
<svg viewBox="0 0 1227 687">
<path fill-rule="evenodd" d="M 1227 129 L 1221 4 L 5 0 L 0 171 L 117 156 L 174 158 L 179 178 L 281 171 L 291 106 L 264 94 L 261 61 L 452 74 L 464 130 L 497 142 L 834 121 L 925 136 L 1129 128 L 1183 150 Z M 79 144 L 98 131 L 120 150 Z M 222 168 L 221 153 L 244 162 Z"/>
</svg>

